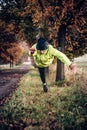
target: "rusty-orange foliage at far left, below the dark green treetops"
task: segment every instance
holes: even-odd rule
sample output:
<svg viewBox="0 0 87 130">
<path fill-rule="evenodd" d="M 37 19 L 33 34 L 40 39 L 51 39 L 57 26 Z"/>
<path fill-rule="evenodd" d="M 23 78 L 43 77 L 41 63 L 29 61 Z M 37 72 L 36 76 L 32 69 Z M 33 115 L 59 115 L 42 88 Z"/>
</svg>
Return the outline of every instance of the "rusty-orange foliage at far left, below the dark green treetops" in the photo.
<svg viewBox="0 0 87 130">
<path fill-rule="evenodd" d="M 16 41 L 15 25 L 1 21 L 0 25 L 0 62 L 15 64 L 21 57 L 23 48 Z"/>
</svg>

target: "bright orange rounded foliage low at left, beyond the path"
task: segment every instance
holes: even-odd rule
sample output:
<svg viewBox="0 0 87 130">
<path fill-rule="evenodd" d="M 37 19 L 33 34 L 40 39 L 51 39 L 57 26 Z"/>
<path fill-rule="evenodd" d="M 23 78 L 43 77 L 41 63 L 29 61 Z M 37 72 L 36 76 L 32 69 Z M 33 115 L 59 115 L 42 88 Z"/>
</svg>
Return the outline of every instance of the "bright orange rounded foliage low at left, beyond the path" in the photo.
<svg viewBox="0 0 87 130">
<path fill-rule="evenodd" d="M 10 63 L 11 67 L 13 64 L 16 64 L 21 56 L 23 55 L 23 47 L 14 42 L 14 43 L 3 43 L 0 46 L 0 62 L 1 63 Z"/>
</svg>

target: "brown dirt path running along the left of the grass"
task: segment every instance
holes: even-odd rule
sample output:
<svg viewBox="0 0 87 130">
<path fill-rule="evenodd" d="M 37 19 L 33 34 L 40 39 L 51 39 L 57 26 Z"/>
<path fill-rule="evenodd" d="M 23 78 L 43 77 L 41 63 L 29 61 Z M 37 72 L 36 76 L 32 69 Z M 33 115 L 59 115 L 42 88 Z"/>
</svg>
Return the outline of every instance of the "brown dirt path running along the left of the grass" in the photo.
<svg viewBox="0 0 87 130">
<path fill-rule="evenodd" d="M 15 91 L 19 79 L 29 71 L 29 64 L 23 64 L 19 69 L 0 71 L 0 105 Z"/>
</svg>

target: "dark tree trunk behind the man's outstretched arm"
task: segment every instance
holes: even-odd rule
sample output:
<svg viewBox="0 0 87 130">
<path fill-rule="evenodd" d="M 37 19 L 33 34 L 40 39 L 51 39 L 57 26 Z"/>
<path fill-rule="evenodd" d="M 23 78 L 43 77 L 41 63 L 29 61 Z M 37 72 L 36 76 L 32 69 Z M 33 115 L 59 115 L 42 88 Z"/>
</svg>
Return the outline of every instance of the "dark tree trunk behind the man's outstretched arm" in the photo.
<svg viewBox="0 0 87 130">
<path fill-rule="evenodd" d="M 66 25 L 60 25 L 58 32 L 58 50 L 64 53 L 64 43 L 65 43 L 65 34 L 66 34 Z M 57 69 L 56 69 L 56 81 L 64 80 L 64 64 L 57 60 Z"/>
</svg>

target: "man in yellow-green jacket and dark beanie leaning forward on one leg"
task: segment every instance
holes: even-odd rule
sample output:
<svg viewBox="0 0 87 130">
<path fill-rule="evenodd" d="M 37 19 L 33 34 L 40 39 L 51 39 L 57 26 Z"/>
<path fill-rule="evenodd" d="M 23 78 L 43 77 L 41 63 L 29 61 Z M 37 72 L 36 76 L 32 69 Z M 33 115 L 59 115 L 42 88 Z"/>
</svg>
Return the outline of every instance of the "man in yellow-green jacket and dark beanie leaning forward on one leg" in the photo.
<svg viewBox="0 0 87 130">
<path fill-rule="evenodd" d="M 57 57 L 71 70 L 74 68 L 74 65 L 71 63 L 68 57 L 64 53 L 53 48 L 52 45 L 49 45 L 44 37 L 38 38 L 37 43 L 33 45 L 32 48 L 30 48 L 30 51 L 38 67 L 44 92 L 48 92 L 46 77 L 45 77 L 45 68 L 52 63 L 54 57 Z"/>
</svg>

